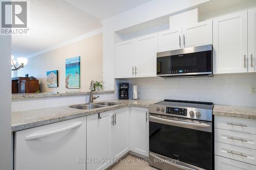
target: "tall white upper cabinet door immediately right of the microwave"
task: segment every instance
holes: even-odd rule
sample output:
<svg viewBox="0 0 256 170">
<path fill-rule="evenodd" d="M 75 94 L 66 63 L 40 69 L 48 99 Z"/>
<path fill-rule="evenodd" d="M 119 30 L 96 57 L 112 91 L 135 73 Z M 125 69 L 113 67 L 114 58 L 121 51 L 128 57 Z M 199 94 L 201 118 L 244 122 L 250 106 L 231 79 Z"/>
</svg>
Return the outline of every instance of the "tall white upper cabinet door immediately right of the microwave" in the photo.
<svg viewBox="0 0 256 170">
<path fill-rule="evenodd" d="M 214 73 L 247 72 L 247 11 L 214 19 Z"/>
</svg>

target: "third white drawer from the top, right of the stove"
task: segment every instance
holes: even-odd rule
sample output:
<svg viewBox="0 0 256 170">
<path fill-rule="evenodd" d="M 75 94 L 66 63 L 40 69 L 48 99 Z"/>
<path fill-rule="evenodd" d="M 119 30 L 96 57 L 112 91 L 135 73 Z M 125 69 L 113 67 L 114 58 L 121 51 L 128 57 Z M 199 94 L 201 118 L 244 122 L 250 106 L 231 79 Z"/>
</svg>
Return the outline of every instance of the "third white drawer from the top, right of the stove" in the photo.
<svg viewBox="0 0 256 170">
<path fill-rule="evenodd" d="M 256 150 L 237 147 L 231 144 L 215 142 L 215 155 L 254 165 L 256 164 Z"/>
</svg>

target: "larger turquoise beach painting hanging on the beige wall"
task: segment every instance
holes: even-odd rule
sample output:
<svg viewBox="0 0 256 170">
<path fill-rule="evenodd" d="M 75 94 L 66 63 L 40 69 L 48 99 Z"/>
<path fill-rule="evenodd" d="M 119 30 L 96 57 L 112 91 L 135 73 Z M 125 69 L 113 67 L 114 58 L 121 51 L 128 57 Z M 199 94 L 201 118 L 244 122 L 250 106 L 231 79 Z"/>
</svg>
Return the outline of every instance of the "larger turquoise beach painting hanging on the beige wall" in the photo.
<svg viewBox="0 0 256 170">
<path fill-rule="evenodd" d="M 66 88 L 80 88 L 80 56 L 66 59 Z"/>
</svg>

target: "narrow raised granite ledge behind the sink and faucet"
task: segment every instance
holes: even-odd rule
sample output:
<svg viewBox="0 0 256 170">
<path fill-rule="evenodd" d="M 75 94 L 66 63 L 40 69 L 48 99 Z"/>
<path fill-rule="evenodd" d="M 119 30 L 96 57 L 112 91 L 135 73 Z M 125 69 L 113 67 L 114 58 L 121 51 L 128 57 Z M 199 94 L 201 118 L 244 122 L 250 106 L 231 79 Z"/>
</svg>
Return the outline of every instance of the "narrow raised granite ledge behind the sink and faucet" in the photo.
<svg viewBox="0 0 256 170">
<path fill-rule="evenodd" d="M 103 91 L 93 91 L 93 94 L 103 94 L 103 93 L 114 93 L 114 90 L 103 90 Z M 12 99 L 30 99 L 30 98 L 48 98 L 48 97 L 58 97 L 58 96 L 68 96 L 68 95 L 84 95 L 90 94 L 90 91 L 70 91 L 70 92 L 41 92 L 41 93 L 21 93 L 12 94 Z"/>
</svg>

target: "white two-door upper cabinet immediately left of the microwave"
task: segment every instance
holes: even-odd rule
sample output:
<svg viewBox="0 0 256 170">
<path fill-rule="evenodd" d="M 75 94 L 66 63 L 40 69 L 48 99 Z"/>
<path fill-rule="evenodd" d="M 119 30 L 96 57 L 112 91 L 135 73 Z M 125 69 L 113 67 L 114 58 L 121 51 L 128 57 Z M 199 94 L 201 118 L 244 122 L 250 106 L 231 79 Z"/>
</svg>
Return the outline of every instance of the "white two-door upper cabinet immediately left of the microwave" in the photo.
<svg viewBox="0 0 256 170">
<path fill-rule="evenodd" d="M 157 34 L 116 45 L 116 78 L 155 77 Z"/>
</svg>

